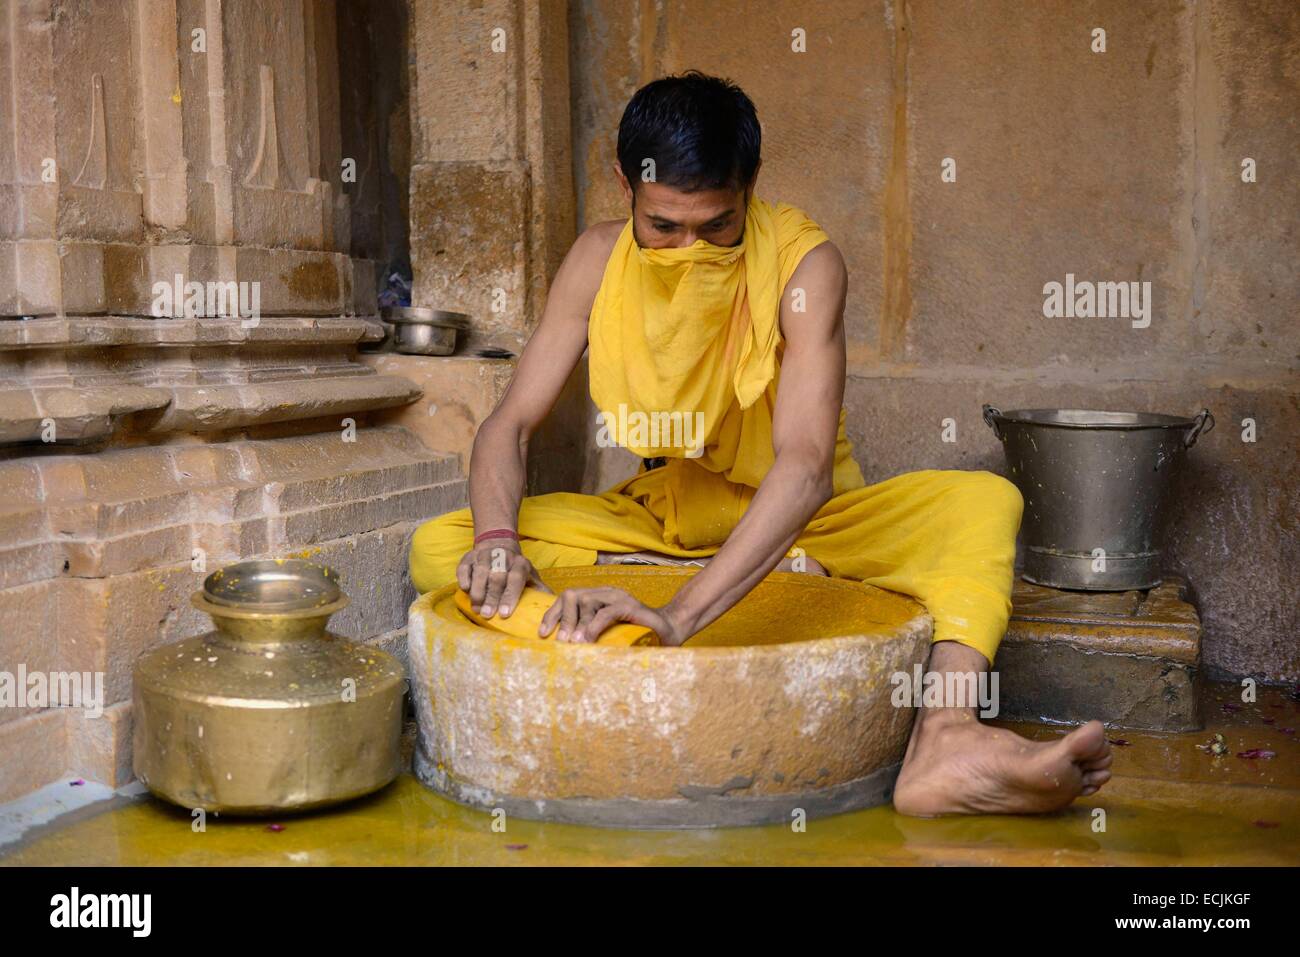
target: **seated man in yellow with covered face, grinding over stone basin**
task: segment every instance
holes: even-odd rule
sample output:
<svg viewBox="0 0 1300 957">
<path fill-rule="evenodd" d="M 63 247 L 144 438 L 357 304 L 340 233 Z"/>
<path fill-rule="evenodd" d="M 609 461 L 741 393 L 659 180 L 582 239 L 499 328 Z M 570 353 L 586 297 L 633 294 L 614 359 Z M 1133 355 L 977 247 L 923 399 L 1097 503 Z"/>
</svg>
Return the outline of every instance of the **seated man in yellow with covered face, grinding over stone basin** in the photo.
<svg viewBox="0 0 1300 957">
<path fill-rule="evenodd" d="M 594 641 L 630 622 L 680 645 L 794 567 L 916 597 L 935 619 L 930 671 L 983 672 L 1010 614 L 1019 493 L 988 472 L 864 486 L 841 408 L 844 260 L 801 211 L 754 196 L 758 169 L 758 117 L 738 87 L 690 73 L 632 98 L 615 165 L 632 216 L 573 243 L 478 430 L 471 508 L 416 532 L 411 576 L 421 592 L 458 581 L 490 618 L 540 584 L 537 568 L 693 560 L 702 571 L 663 607 L 572 589 L 540 628 Z M 602 495 L 523 498 L 528 438 L 584 350 L 606 430 L 666 464 Z M 1054 810 L 1097 791 L 1109 766 L 1097 722 L 1034 742 L 982 724 L 971 706 L 923 707 L 894 806 Z"/>
</svg>

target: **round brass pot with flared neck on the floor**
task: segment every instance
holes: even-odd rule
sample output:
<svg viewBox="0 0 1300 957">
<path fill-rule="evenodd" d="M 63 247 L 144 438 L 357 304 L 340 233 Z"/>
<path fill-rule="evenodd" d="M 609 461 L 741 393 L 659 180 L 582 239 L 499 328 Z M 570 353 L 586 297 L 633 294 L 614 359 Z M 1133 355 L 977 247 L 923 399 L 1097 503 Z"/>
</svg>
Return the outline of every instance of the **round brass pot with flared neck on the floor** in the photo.
<svg viewBox="0 0 1300 957">
<path fill-rule="evenodd" d="M 333 570 L 295 559 L 213 572 L 216 631 L 140 657 L 135 775 L 183 807 L 269 814 L 367 794 L 399 770 L 400 662 L 325 631 Z"/>
</svg>

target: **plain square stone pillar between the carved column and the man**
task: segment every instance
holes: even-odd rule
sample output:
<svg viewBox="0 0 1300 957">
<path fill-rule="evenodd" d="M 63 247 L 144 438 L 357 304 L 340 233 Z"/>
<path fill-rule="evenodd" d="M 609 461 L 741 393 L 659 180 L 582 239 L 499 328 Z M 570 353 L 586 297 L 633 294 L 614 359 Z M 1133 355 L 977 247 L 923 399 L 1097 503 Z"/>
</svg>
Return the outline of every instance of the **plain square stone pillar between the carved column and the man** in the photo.
<svg viewBox="0 0 1300 957">
<path fill-rule="evenodd" d="M 519 352 L 573 241 L 563 0 L 412 3 L 413 300 Z"/>
</svg>

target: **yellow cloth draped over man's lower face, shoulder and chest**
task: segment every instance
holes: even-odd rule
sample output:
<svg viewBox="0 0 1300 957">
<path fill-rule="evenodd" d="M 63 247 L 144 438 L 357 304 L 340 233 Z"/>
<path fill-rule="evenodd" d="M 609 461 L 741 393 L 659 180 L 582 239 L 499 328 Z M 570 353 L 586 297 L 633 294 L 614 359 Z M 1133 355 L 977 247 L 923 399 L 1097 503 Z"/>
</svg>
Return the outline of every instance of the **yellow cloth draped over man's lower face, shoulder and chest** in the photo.
<svg viewBox="0 0 1300 957">
<path fill-rule="evenodd" d="M 760 199 L 738 246 L 647 250 L 624 226 L 592 308 L 592 399 L 607 441 L 689 462 L 670 464 L 675 498 L 724 478 L 748 501 L 771 468 L 781 294 L 826 241 L 802 209 Z M 837 492 L 862 485 L 842 421 L 841 445 Z"/>
</svg>

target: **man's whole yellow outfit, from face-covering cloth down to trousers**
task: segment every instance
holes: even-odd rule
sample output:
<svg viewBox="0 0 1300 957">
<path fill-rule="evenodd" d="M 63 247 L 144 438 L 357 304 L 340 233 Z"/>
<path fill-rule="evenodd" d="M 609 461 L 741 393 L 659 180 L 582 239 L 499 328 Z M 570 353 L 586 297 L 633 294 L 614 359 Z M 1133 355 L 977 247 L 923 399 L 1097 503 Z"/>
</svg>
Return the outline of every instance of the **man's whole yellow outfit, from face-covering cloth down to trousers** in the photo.
<svg viewBox="0 0 1300 957">
<path fill-rule="evenodd" d="M 594 564 L 599 551 L 718 551 L 774 462 L 781 294 L 826 241 L 801 209 L 757 198 L 732 247 L 641 248 L 628 221 L 592 307 L 592 399 L 611 439 L 668 464 L 599 495 L 525 498 L 519 533 L 536 567 Z M 1011 609 L 1015 486 L 989 472 L 933 469 L 867 486 L 841 410 L 833 490 L 796 547 L 836 577 L 913 596 L 935 619 L 936 641 L 992 661 Z M 472 544 L 468 508 L 421 525 L 411 545 L 416 588 L 455 581 Z"/>
</svg>

